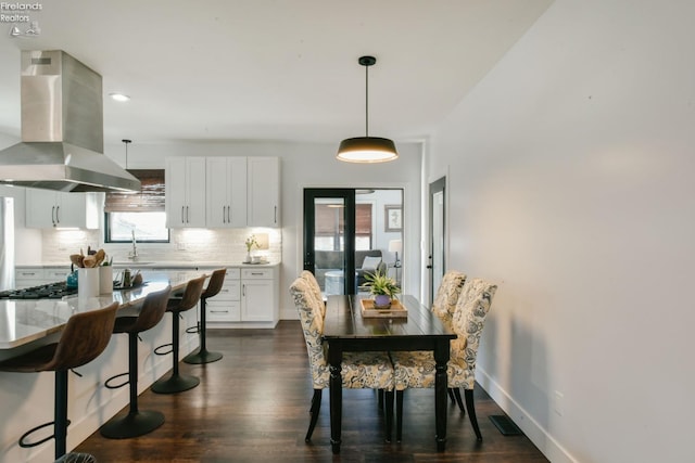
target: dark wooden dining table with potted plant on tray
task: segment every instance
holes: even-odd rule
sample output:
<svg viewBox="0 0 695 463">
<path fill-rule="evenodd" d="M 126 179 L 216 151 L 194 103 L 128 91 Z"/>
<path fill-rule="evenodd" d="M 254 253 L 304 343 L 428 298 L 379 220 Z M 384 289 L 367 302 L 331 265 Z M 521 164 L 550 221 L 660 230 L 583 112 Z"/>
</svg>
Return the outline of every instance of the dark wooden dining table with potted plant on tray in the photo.
<svg viewBox="0 0 695 463">
<path fill-rule="evenodd" d="M 456 334 L 414 296 L 401 295 L 399 303 L 407 311 L 390 317 L 388 312 L 363 314 L 364 295 L 331 295 L 326 301 L 323 340 L 330 369 L 330 442 L 332 452 L 340 453 L 342 422 L 343 352 L 430 350 L 434 353 L 434 423 L 438 451 L 446 447 L 446 363 L 450 342 Z M 387 440 L 390 436 L 387 436 Z"/>
</svg>

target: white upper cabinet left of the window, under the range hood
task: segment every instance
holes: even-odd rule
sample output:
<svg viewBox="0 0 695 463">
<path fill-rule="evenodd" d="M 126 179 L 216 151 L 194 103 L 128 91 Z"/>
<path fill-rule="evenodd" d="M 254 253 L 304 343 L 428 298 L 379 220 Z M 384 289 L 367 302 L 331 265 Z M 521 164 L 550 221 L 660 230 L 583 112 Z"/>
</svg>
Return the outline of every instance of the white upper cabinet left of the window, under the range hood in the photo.
<svg viewBox="0 0 695 463">
<path fill-rule="evenodd" d="M 25 213 L 27 228 L 99 228 L 97 193 L 64 193 L 28 188 Z"/>
</svg>

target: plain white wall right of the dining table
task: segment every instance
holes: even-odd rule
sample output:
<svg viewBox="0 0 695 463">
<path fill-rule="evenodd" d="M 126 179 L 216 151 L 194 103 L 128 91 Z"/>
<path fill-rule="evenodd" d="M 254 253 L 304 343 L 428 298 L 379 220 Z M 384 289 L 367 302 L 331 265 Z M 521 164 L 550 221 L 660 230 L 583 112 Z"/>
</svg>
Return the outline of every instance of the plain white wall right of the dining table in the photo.
<svg viewBox="0 0 695 463">
<path fill-rule="evenodd" d="M 557 0 L 429 150 L 451 267 L 500 286 L 478 380 L 554 462 L 693 459 L 693 17 Z"/>
</svg>

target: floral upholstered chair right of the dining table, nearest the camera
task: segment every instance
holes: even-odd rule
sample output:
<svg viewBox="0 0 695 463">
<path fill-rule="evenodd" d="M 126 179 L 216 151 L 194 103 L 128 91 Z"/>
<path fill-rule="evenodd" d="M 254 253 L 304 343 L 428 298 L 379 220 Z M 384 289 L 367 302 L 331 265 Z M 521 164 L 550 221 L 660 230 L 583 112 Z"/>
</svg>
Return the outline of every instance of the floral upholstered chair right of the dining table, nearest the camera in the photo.
<svg viewBox="0 0 695 463">
<path fill-rule="evenodd" d="M 464 388 L 468 417 L 478 440 L 482 440 L 482 435 L 473 404 L 476 357 L 480 334 L 496 291 L 496 285 L 481 279 L 466 281 L 458 296 L 452 320 L 454 333 L 458 335 L 458 338 L 451 343 L 451 357 L 446 368 L 447 386 L 454 389 L 458 406 L 465 412 L 459 390 L 460 387 Z M 429 351 L 391 352 L 391 360 L 395 369 L 396 440 L 401 440 L 403 391 L 408 387 L 434 387 L 435 362 L 434 356 Z"/>
</svg>

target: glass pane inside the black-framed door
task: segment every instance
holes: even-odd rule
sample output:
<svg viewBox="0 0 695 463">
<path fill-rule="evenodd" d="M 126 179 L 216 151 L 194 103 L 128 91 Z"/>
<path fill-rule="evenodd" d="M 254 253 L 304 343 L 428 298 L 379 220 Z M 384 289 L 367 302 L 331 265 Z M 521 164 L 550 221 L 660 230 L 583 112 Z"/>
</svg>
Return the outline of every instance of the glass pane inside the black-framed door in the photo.
<svg viewBox="0 0 695 463">
<path fill-rule="evenodd" d="M 324 294 L 344 294 L 345 200 L 314 200 L 315 275 Z"/>
</svg>

